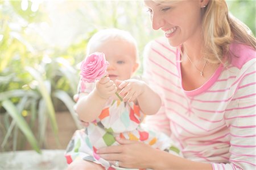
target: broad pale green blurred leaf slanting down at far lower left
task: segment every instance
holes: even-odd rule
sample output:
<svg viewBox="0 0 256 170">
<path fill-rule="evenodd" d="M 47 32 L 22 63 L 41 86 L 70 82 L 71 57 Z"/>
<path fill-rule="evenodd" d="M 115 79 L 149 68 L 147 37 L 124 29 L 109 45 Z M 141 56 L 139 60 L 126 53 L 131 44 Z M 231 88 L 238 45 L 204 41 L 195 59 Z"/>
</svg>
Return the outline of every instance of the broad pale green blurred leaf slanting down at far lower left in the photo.
<svg viewBox="0 0 256 170">
<path fill-rule="evenodd" d="M 32 131 L 30 130 L 30 127 L 27 125 L 27 122 L 24 120 L 24 118 L 20 114 L 18 114 L 18 111 L 16 110 L 16 107 L 13 105 L 13 103 L 9 100 L 5 100 L 2 102 L 2 105 L 14 119 L 16 125 L 26 136 L 28 142 L 31 144 L 34 150 L 38 153 L 41 153 L 38 142 L 36 141 Z"/>
</svg>

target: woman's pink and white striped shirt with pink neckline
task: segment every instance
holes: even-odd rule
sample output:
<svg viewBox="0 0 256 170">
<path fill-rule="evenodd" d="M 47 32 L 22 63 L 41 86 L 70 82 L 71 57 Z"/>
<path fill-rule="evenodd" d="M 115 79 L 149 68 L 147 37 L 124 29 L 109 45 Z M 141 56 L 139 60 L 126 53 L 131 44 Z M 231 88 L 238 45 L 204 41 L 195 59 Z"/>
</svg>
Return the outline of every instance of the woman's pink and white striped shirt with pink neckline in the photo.
<svg viewBox="0 0 256 170">
<path fill-rule="evenodd" d="M 148 84 L 162 107 L 146 123 L 170 134 L 185 158 L 212 163 L 213 169 L 255 169 L 255 51 L 232 44 L 228 67 L 220 65 L 200 88 L 181 86 L 180 53 L 166 38 L 144 53 Z"/>
</svg>

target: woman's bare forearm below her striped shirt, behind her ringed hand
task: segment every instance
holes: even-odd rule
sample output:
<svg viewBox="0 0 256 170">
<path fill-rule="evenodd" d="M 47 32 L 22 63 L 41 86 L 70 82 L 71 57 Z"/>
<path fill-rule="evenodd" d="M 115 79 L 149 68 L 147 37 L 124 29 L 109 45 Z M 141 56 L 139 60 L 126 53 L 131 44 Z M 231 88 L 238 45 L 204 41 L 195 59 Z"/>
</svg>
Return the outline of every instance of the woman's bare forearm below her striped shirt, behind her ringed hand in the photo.
<svg viewBox="0 0 256 170">
<path fill-rule="evenodd" d="M 154 150 L 148 159 L 148 167 L 154 170 L 162 169 L 204 169 L 212 170 L 212 165 L 209 163 L 200 163 L 179 156 L 172 155 L 161 150 Z"/>
</svg>

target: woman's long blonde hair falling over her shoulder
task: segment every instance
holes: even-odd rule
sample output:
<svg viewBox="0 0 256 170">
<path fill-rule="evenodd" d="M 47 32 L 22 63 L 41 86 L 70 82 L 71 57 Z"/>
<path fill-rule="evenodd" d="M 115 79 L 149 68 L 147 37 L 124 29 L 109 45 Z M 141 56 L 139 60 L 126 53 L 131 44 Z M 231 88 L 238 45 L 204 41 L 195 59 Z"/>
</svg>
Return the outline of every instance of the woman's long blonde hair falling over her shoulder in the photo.
<svg viewBox="0 0 256 170">
<path fill-rule="evenodd" d="M 228 64 L 234 56 L 229 49 L 231 43 L 249 45 L 255 49 L 255 37 L 240 20 L 229 14 L 225 0 L 209 0 L 203 8 L 203 54 L 209 63 Z"/>
</svg>

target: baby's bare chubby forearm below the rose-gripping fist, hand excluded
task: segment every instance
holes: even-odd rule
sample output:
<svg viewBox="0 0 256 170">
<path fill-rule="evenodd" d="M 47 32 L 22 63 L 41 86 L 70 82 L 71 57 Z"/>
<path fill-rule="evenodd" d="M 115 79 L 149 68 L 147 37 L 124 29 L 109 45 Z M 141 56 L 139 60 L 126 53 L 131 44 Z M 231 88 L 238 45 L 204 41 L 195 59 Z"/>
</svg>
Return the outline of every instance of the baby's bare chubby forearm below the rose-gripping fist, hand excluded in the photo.
<svg viewBox="0 0 256 170">
<path fill-rule="evenodd" d="M 76 112 L 84 122 L 94 121 L 100 114 L 108 99 L 101 98 L 94 89 L 77 102 Z"/>
</svg>

